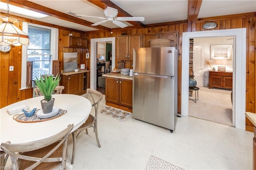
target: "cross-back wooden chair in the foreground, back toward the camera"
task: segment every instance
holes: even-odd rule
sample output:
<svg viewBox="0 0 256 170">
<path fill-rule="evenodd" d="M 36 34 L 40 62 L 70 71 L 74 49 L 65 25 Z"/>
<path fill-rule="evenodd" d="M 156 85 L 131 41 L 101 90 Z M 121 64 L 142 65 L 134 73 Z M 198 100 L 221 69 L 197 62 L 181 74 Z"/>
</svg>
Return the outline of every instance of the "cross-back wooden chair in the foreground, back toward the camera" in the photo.
<svg viewBox="0 0 256 170">
<path fill-rule="evenodd" d="M 1 144 L 1 149 L 12 160 L 14 169 L 66 169 L 67 142 L 73 125 L 42 140 L 24 144 L 12 144 L 10 141 Z"/>
</svg>

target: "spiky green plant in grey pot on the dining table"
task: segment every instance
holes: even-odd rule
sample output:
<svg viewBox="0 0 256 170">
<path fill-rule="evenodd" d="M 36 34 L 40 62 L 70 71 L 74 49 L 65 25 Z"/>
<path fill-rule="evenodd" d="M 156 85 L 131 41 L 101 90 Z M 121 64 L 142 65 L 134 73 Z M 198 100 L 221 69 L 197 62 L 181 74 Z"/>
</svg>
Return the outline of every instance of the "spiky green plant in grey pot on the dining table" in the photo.
<svg viewBox="0 0 256 170">
<path fill-rule="evenodd" d="M 44 99 L 41 100 L 42 111 L 44 114 L 51 113 L 55 100 L 52 98 L 52 93 L 60 81 L 60 76 L 57 75 L 54 78 L 53 75 L 45 75 L 43 78 L 40 75 L 40 79 L 36 77 L 35 81 L 39 90 L 44 95 Z"/>
</svg>

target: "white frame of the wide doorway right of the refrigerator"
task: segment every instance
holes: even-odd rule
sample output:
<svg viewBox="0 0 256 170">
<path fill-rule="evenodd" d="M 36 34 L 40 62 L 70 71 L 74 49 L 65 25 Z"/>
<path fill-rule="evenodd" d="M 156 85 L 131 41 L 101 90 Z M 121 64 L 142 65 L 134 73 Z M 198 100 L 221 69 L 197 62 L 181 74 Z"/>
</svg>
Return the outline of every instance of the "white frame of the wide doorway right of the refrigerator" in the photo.
<svg viewBox="0 0 256 170">
<path fill-rule="evenodd" d="M 224 36 L 234 37 L 232 123 L 234 127 L 245 130 L 246 28 L 184 32 L 182 34 L 181 113 L 188 116 L 189 39 Z"/>
</svg>

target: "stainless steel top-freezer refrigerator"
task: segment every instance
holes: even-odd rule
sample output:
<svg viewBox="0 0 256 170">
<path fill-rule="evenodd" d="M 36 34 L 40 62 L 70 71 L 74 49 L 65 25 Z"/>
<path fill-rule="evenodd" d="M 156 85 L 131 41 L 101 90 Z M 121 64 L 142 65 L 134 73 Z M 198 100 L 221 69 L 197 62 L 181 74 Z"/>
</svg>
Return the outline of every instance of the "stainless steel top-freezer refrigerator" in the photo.
<svg viewBox="0 0 256 170">
<path fill-rule="evenodd" d="M 132 117 L 173 132 L 178 114 L 178 51 L 148 47 L 134 53 Z"/>
</svg>

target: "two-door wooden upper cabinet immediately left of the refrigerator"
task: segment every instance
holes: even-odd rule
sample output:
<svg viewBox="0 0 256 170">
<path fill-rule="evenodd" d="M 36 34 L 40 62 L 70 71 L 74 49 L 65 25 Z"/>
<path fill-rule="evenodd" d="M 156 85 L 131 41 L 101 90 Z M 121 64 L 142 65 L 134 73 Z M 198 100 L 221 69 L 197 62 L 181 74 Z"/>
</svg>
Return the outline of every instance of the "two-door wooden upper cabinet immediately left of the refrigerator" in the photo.
<svg viewBox="0 0 256 170">
<path fill-rule="evenodd" d="M 133 60 L 133 48 L 140 47 L 140 36 L 119 36 L 117 38 L 117 59 Z"/>
</svg>

